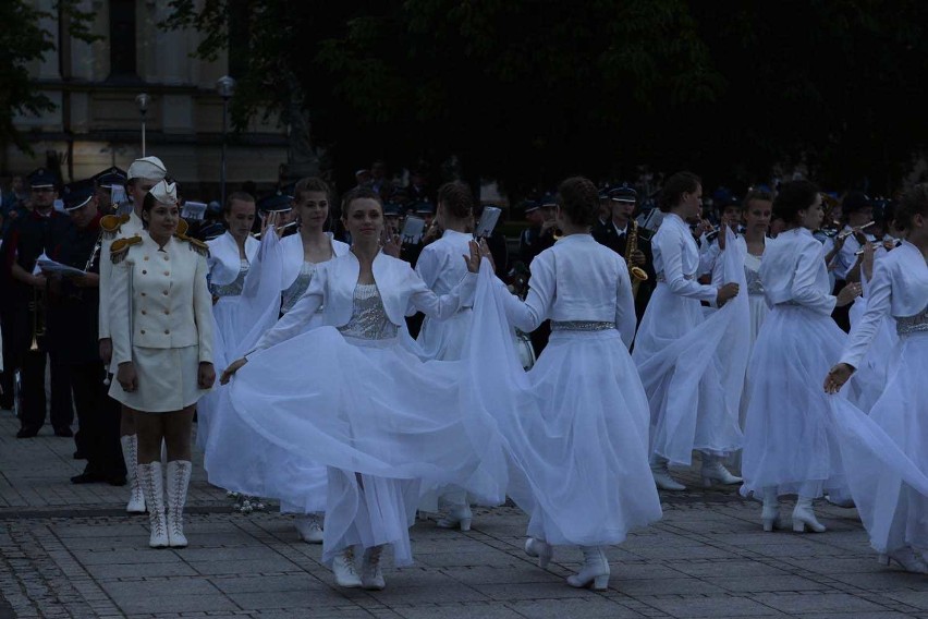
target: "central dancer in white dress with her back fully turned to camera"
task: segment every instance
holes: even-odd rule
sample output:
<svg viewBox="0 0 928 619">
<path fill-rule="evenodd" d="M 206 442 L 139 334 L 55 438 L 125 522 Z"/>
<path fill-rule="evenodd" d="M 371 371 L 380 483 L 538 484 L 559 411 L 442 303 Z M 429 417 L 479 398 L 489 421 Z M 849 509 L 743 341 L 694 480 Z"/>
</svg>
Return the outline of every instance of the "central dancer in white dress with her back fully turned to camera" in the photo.
<svg viewBox="0 0 928 619">
<path fill-rule="evenodd" d="M 569 584 L 605 590 L 605 546 L 660 519 L 661 509 L 648 474 L 648 402 L 628 354 L 628 267 L 589 233 L 599 206 L 590 181 L 565 180 L 558 202 L 563 235 L 532 260 L 525 302 L 481 274 L 472 374 L 518 470 L 508 494 L 530 517 L 526 553 L 545 568 L 553 546 L 581 546 L 584 563 Z M 528 373 L 509 345 L 506 319 L 526 332 L 551 320 Z"/>
</svg>

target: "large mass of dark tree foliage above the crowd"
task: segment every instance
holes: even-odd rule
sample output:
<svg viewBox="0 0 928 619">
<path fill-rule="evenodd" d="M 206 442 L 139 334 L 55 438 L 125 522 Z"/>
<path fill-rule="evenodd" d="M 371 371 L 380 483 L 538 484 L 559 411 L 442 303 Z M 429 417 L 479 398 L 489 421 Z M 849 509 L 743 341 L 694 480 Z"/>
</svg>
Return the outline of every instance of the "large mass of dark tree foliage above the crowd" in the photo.
<svg viewBox="0 0 928 619">
<path fill-rule="evenodd" d="M 454 154 L 520 191 L 642 162 L 748 183 L 802 161 L 889 189 L 928 131 L 918 0 L 171 3 L 167 27 L 244 68 L 237 124 L 298 92 L 342 174 Z"/>
</svg>

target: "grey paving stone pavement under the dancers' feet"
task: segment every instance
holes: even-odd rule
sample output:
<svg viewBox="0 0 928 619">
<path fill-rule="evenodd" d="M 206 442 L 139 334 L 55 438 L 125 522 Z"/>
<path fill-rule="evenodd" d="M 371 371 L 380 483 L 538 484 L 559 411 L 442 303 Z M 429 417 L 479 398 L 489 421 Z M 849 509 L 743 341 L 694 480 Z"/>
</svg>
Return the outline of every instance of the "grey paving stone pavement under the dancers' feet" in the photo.
<svg viewBox="0 0 928 619">
<path fill-rule="evenodd" d="M 609 550 L 607 592 L 564 583 L 575 548 L 538 569 L 513 507 L 477 509 L 467 533 L 417 522 L 416 566 L 387 569 L 387 590 L 364 592 L 334 586 L 290 517 L 233 512 L 199 461 L 190 547 L 151 550 L 147 518 L 123 512 L 125 488 L 69 483 L 83 465 L 73 440 L 50 428 L 16 440 L 16 427 L 0 412 L 0 619 L 928 619 L 928 578 L 878 565 L 855 511 L 820 503 L 828 533 L 764 533 L 759 503 L 703 489 L 693 471 L 681 472 L 693 489 L 662 494 L 663 520 Z"/>
</svg>

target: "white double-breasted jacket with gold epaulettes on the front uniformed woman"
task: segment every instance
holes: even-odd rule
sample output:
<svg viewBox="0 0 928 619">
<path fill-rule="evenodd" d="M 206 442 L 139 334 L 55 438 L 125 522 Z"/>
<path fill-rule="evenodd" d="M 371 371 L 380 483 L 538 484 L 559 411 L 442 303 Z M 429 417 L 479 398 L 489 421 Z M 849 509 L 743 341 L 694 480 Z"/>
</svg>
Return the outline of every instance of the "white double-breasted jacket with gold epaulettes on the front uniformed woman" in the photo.
<svg viewBox="0 0 928 619">
<path fill-rule="evenodd" d="M 172 236 L 159 247 L 148 232 L 113 265 L 113 359 L 133 361 L 132 349 L 199 347 L 199 361 L 212 363 L 212 298 L 206 257 Z"/>
</svg>

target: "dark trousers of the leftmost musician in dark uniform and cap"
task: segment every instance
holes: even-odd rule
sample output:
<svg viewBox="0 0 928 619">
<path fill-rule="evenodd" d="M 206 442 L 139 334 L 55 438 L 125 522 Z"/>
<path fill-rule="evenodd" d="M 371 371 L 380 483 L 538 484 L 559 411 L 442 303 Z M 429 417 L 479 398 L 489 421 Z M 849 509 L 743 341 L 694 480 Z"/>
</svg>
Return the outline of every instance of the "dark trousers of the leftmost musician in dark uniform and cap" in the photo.
<svg viewBox="0 0 928 619">
<path fill-rule="evenodd" d="M 20 376 L 22 377 L 23 408 L 20 423 L 24 428 L 39 429 L 45 424 L 45 368 L 46 353 L 41 350 L 26 350 L 20 355 Z M 74 406 L 71 398 L 69 367 L 57 363 L 51 355 L 51 426 L 56 429 L 71 427 L 74 421 Z"/>
</svg>

